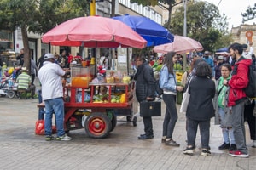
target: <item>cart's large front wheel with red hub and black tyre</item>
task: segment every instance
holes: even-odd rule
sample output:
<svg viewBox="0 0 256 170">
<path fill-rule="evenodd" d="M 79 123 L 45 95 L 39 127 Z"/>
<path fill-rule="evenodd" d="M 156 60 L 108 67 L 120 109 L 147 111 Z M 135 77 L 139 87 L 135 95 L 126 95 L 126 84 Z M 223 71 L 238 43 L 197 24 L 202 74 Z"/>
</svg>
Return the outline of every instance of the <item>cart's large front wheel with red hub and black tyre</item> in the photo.
<svg viewBox="0 0 256 170">
<path fill-rule="evenodd" d="M 85 121 L 85 132 L 92 138 L 105 138 L 112 128 L 112 123 L 104 113 L 92 113 Z"/>
</svg>

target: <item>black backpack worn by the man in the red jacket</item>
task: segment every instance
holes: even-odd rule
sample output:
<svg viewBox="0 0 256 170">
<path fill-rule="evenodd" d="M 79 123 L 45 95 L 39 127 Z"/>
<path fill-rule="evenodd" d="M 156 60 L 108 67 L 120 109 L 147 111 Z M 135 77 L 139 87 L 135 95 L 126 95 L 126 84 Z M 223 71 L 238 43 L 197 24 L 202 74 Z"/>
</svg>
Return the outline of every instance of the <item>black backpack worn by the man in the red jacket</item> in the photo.
<svg viewBox="0 0 256 170">
<path fill-rule="evenodd" d="M 253 59 L 252 64 L 249 65 L 249 72 L 248 72 L 249 82 L 248 82 L 247 88 L 244 89 L 248 98 L 256 97 L 256 66 L 255 65 L 256 65 L 255 60 Z"/>
</svg>

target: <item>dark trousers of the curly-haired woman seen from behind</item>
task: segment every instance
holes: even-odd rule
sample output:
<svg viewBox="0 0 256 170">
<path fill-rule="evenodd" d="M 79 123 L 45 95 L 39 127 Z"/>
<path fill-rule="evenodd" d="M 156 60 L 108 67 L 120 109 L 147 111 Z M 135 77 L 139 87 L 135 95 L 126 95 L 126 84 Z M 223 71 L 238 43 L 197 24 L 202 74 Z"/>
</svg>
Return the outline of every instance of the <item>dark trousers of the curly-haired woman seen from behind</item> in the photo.
<svg viewBox="0 0 256 170">
<path fill-rule="evenodd" d="M 196 120 L 187 118 L 187 120 L 188 120 L 188 131 L 187 131 L 188 145 L 192 145 L 192 147 L 195 147 L 197 127 L 199 126 L 200 133 L 201 133 L 201 148 L 209 150 L 211 119 L 206 121 L 196 121 Z"/>
</svg>

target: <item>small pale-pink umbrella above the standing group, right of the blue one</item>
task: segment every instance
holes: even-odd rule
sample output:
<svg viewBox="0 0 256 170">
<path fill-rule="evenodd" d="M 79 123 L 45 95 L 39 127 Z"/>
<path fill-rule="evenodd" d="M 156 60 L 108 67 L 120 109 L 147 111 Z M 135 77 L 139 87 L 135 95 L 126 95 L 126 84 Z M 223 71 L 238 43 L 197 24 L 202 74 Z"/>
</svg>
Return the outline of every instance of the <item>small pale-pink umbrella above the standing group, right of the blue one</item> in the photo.
<svg viewBox="0 0 256 170">
<path fill-rule="evenodd" d="M 155 46 L 153 48 L 156 53 L 166 54 L 170 51 L 174 51 L 177 54 L 183 54 L 193 51 L 201 51 L 203 47 L 200 42 L 195 41 L 189 37 L 174 36 L 174 41 L 162 45 Z"/>
</svg>

